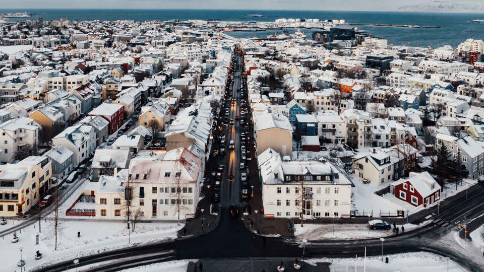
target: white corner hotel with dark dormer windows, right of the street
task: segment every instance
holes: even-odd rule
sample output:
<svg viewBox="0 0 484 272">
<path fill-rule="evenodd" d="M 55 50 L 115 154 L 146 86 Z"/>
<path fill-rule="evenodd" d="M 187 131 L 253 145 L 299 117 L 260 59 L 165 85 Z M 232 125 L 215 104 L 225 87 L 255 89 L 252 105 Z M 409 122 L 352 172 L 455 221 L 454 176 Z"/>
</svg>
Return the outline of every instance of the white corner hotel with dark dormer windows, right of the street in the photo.
<svg viewBox="0 0 484 272">
<path fill-rule="evenodd" d="M 258 156 L 266 218 L 349 216 L 351 179 L 325 160 L 286 160 L 267 149 Z"/>
</svg>

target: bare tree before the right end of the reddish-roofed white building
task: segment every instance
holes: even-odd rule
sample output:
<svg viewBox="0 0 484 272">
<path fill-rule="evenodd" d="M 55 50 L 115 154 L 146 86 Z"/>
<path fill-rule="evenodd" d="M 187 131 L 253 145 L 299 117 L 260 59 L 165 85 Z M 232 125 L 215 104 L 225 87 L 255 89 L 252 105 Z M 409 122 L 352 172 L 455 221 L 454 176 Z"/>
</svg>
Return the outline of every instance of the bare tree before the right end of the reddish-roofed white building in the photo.
<svg viewBox="0 0 484 272">
<path fill-rule="evenodd" d="M 189 183 L 185 182 L 184 168 L 181 163 L 176 163 L 172 169 L 173 176 L 170 177 L 170 192 L 168 193 L 173 208 L 173 216 L 178 218 L 178 226 L 180 225 L 180 215 L 184 212 L 191 211 L 190 207 L 193 203 L 191 195 L 189 194 Z"/>
</svg>

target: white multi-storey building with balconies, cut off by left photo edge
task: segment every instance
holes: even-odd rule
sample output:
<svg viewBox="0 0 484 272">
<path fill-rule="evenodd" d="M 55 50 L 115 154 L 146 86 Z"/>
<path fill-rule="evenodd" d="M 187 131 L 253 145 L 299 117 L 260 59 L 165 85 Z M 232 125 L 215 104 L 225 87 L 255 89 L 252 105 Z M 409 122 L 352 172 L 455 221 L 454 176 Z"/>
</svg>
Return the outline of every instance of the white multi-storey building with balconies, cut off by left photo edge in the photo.
<svg viewBox="0 0 484 272">
<path fill-rule="evenodd" d="M 26 144 L 37 143 L 39 127 L 34 122 L 34 119 L 20 117 L 0 124 L 0 161 L 10 162 L 15 151 L 21 150 Z"/>
</svg>

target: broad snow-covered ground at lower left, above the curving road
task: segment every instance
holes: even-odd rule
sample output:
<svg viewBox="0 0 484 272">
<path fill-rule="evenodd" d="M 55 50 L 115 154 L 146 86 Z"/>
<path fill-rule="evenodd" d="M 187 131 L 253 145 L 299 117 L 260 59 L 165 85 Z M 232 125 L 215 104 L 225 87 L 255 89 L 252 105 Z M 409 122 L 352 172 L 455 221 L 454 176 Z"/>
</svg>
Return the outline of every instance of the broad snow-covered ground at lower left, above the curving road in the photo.
<svg viewBox="0 0 484 272">
<path fill-rule="evenodd" d="M 92 254 L 118 248 L 124 248 L 135 244 L 147 244 L 155 241 L 175 239 L 176 233 L 183 225 L 177 226 L 176 223 L 140 223 L 135 231 L 128 235 L 126 223 L 111 222 L 79 222 L 67 221 L 63 223 L 65 229 L 57 237 L 57 251 L 55 247 L 55 237 L 50 237 L 51 228 L 48 222 L 42 221 L 42 233 L 38 233 L 38 223 L 35 226 L 28 226 L 22 233 L 17 232 L 19 242 L 12 243 L 10 240 L 13 235 L 8 235 L 4 240 L 0 240 L 0 256 L 4 260 L 2 268 L 9 271 L 15 270 L 17 261 L 20 260 L 20 247 L 24 247 L 22 252 L 23 259 L 27 262 L 27 269 L 40 264 L 52 264 Z M 81 232 L 81 237 L 77 238 L 77 232 Z M 35 236 L 39 234 L 39 244 L 35 245 Z M 129 244 L 129 237 L 131 244 Z M 35 252 L 42 253 L 42 259 L 34 260 Z"/>
</svg>

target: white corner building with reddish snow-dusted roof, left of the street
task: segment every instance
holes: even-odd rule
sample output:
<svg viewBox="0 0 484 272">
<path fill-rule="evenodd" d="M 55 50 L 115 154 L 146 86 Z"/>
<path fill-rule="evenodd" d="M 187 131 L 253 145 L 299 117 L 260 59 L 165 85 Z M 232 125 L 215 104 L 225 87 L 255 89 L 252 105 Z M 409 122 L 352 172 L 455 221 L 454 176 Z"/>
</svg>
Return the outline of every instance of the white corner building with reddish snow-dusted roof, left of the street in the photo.
<svg viewBox="0 0 484 272">
<path fill-rule="evenodd" d="M 126 188 L 127 179 L 133 186 Z M 129 173 L 101 176 L 96 188 L 96 216 L 126 216 L 122 202 L 130 192 L 133 210 L 144 217 L 177 217 L 176 203 L 183 205 L 180 219 L 193 218 L 203 184 L 202 160 L 186 148 L 166 152 L 162 160 L 133 159 Z M 180 194 L 177 195 L 179 190 Z"/>
</svg>

